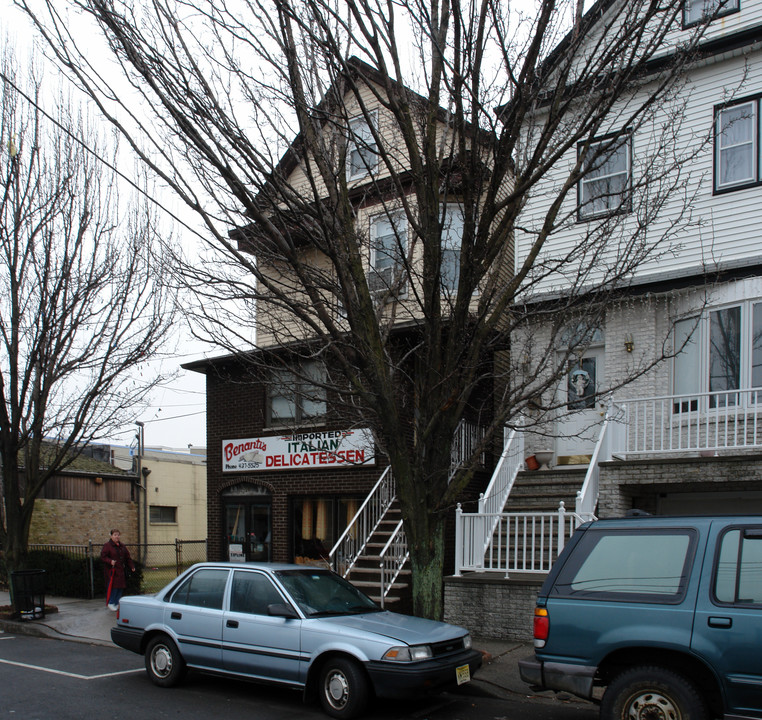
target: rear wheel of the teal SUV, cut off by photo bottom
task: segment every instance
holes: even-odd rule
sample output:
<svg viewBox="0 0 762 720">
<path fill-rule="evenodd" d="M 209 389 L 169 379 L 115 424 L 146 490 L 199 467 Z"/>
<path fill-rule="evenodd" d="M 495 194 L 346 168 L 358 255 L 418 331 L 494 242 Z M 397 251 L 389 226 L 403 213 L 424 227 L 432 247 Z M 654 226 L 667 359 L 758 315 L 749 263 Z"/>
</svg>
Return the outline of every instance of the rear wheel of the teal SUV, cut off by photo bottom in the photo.
<svg viewBox="0 0 762 720">
<path fill-rule="evenodd" d="M 609 684 L 601 720 L 709 720 L 709 712 L 687 678 L 667 668 L 636 666 Z"/>
</svg>

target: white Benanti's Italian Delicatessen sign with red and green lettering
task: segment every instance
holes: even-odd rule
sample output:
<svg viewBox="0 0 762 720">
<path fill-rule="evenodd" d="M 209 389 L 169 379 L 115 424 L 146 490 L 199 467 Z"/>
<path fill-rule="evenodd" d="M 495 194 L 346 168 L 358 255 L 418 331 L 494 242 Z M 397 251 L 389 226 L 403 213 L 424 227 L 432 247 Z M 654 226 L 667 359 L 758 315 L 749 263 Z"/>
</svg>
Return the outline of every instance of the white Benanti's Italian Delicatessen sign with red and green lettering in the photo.
<svg viewBox="0 0 762 720">
<path fill-rule="evenodd" d="M 222 471 L 375 465 L 370 430 L 329 430 L 222 441 Z"/>
</svg>

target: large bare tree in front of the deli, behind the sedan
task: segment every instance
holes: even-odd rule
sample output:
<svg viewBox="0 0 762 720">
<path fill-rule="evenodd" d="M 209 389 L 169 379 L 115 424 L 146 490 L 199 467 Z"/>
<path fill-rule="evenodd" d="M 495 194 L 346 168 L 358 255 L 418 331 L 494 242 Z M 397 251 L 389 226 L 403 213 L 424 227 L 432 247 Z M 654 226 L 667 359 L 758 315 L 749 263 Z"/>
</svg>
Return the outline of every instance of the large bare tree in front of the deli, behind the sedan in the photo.
<svg viewBox="0 0 762 720">
<path fill-rule="evenodd" d="M 129 82 L 115 92 L 80 52 L 62 3 L 19 4 L 203 219 L 209 257 L 184 268 L 199 327 L 236 353 L 257 348 L 256 332 L 260 345 L 322 359 L 330 370 L 319 384 L 334 406 L 373 428 L 398 484 L 415 611 L 440 616 L 445 518 L 482 451 L 557 386 L 612 293 L 673 252 L 690 221 L 689 153 L 675 134 L 703 24 L 678 47 L 682 0 L 601 1 L 584 15 L 574 0 L 526 11 L 509 2 L 70 0 Z M 659 124 L 653 159 L 626 188 L 637 222 L 590 222 L 576 247 L 554 252 L 549 239 L 577 220 L 579 182 L 618 151 L 596 139 L 612 123 L 637 132 L 657 112 L 672 122 Z M 547 211 L 524 223 L 542 193 L 552 197 Z M 655 233 L 672 198 L 681 211 Z M 388 221 L 383 247 L 358 220 L 369 205 Z M 231 236 L 231 226 L 242 229 Z M 514 268 L 519 231 L 529 247 Z M 388 273 L 369 272 L 379 251 Z M 563 295 L 530 303 L 554 277 Z M 548 320 L 542 341 L 524 332 L 516 346 L 518 329 Z M 571 323 L 578 332 L 564 357 L 557 340 Z M 657 348 L 633 375 L 665 354 Z M 464 417 L 485 433 L 450 477 Z"/>
</svg>

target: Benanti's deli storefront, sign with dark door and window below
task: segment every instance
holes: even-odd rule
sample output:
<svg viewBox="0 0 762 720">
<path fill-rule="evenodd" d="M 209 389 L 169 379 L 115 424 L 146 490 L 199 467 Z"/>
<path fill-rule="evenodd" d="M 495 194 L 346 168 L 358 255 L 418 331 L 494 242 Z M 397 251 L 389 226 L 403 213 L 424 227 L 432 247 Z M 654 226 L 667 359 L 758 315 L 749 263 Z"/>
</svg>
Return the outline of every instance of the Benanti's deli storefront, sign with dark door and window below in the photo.
<svg viewBox="0 0 762 720">
<path fill-rule="evenodd" d="M 367 429 L 222 442 L 224 559 L 324 565 L 378 478 Z"/>
</svg>

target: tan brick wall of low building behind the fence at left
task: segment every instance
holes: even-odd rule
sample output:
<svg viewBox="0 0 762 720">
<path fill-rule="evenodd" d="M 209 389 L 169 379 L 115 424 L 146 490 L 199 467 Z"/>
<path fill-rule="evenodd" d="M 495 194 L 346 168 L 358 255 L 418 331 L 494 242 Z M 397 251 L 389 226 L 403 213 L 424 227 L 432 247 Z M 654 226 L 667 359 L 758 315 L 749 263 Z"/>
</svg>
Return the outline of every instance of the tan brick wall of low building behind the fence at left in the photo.
<svg viewBox="0 0 762 720">
<path fill-rule="evenodd" d="M 137 542 L 135 503 L 38 499 L 34 504 L 29 542 L 85 545 L 92 540 L 102 544 L 113 528 L 122 531 L 122 540 L 128 545 Z"/>
</svg>

